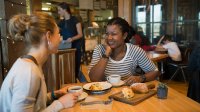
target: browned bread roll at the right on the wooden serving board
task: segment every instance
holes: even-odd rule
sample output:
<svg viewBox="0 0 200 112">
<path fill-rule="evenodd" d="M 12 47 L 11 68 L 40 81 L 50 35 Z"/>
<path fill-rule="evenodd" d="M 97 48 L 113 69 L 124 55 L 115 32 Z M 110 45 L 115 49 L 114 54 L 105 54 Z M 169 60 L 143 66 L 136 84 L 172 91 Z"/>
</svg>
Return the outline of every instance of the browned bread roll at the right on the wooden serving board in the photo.
<svg viewBox="0 0 200 112">
<path fill-rule="evenodd" d="M 145 83 L 134 83 L 130 87 L 136 93 L 147 93 L 147 92 L 149 92 L 148 86 Z"/>
</svg>

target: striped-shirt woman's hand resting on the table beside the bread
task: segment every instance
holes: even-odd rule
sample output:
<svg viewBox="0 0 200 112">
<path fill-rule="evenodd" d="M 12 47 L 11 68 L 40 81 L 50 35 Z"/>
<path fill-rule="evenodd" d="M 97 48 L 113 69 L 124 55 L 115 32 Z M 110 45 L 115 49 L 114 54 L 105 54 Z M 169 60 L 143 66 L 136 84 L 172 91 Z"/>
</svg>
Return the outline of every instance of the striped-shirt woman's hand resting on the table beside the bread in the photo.
<svg viewBox="0 0 200 112">
<path fill-rule="evenodd" d="M 141 76 L 130 76 L 124 82 L 126 85 L 132 85 L 133 83 L 142 82 L 142 78 L 141 78 Z"/>
</svg>

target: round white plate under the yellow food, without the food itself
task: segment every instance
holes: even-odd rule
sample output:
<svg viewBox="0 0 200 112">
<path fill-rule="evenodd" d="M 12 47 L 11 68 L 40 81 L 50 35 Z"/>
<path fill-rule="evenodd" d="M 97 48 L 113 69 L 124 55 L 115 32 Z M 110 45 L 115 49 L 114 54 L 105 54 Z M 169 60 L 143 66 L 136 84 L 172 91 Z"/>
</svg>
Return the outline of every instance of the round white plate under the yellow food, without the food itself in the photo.
<svg viewBox="0 0 200 112">
<path fill-rule="evenodd" d="M 89 89 L 90 86 L 92 84 L 95 84 L 95 83 L 99 83 L 102 86 L 103 89 L 102 90 L 90 90 Z M 108 83 L 108 82 L 92 82 L 92 83 L 87 83 L 87 84 L 83 85 L 83 89 L 88 90 L 88 91 L 95 91 L 95 92 L 100 92 L 100 91 L 108 90 L 111 87 L 112 87 L 112 85 L 110 83 Z"/>
</svg>

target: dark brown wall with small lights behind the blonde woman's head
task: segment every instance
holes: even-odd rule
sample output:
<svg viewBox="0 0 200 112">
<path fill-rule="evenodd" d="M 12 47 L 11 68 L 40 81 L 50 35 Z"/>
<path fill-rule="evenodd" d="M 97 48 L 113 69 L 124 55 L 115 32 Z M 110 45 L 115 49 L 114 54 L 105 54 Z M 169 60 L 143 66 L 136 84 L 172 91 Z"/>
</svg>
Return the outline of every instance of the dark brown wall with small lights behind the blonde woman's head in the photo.
<svg viewBox="0 0 200 112">
<path fill-rule="evenodd" d="M 7 24 L 10 17 L 19 13 L 27 13 L 26 0 L 0 0 L 0 27 L 1 27 L 1 48 L 2 57 L 0 58 L 0 86 L 3 78 L 11 68 L 15 60 L 21 55 L 23 50 L 22 42 L 14 42 L 7 38 Z"/>
</svg>

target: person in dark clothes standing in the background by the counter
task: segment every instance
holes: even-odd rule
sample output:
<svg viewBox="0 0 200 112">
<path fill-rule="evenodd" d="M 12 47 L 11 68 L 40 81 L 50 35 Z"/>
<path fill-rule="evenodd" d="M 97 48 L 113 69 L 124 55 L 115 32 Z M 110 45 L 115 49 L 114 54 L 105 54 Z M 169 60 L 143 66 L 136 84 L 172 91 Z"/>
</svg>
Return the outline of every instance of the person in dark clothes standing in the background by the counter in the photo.
<svg viewBox="0 0 200 112">
<path fill-rule="evenodd" d="M 72 43 L 72 48 L 76 48 L 75 75 L 81 82 L 84 82 L 80 78 L 82 76 L 79 76 L 82 55 L 81 38 L 83 37 L 81 22 L 72 16 L 70 6 L 65 2 L 58 4 L 58 14 L 64 18 L 58 23 L 63 37 L 62 43 Z"/>
</svg>

